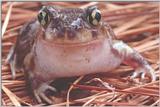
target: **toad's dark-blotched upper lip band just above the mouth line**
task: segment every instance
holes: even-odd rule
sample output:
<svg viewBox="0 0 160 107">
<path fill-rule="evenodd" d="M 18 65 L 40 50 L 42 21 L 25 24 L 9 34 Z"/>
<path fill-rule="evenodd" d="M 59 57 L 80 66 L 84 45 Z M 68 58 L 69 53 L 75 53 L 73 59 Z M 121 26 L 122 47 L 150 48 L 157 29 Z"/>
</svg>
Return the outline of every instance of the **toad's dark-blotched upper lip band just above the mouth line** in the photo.
<svg viewBox="0 0 160 107">
<path fill-rule="evenodd" d="M 97 29 L 51 31 L 44 34 L 44 40 L 53 44 L 86 44 L 106 38 L 106 33 Z"/>
</svg>

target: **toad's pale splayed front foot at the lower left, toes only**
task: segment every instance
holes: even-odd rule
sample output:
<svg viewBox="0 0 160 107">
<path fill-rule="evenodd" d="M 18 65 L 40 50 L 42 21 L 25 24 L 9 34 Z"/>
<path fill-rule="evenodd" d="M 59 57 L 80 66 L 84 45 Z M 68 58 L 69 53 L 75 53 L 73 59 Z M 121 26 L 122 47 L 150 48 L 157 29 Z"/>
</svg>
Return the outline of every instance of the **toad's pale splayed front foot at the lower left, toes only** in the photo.
<svg viewBox="0 0 160 107">
<path fill-rule="evenodd" d="M 49 86 L 46 83 L 41 84 L 37 89 L 34 89 L 33 93 L 36 97 L 38 103 L 42 103 L 42 100 L 46 101 L 49 104 L 53 104 L 53 102 L 45 95 L 45 91 L 49 89 L 53 92 L 56 91 L 56 89 L 52 86 Z"/>
</svg>

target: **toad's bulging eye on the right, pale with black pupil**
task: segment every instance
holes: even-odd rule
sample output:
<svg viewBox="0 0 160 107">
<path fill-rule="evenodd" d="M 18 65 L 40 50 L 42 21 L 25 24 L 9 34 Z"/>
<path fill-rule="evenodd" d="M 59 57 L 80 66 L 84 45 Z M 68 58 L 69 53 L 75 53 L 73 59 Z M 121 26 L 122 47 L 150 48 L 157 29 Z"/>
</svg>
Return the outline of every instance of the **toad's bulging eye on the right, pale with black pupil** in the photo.
<svg viewBox="0 0 160 107">
<path fill-rule="evenodd" d="M 97 8 L 88 11 L 87 20 L 90 24 L 96 26 L 101 20 L 101 12 Z"/>
</svg>

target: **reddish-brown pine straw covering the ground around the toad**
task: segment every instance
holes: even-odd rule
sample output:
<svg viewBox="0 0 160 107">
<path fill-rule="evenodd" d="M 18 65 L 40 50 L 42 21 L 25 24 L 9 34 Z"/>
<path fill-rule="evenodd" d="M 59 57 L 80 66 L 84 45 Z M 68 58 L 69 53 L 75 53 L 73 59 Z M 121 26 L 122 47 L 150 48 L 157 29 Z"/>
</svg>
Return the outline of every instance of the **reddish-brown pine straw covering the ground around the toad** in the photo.
<svg viewBox="0 0 160 107">
<path fill-rule="evenodd" d="M 2 104 L 3 105 L 39 105 L 32 94 L 28 93 L 23 72 L 11 78 L 11 71 L 4 61 L 22 25 L 35 17 L 42 5 L 59 5 L 63 7 L 81 7 L 97 5 L 102 11 L 103 19 L 113 28 L 118 39 L 124 40 L 140 52 L 155 69 L 157 80 L 153 83 L 135 85 L 127 82 L 133 72 L 130 66 L 121 65 L 113 74 L 89 75 L 73 80 L 59 80 L 57 88 L 61 90 L 56 97 L 50 94 L 56 105 L 148 105 L 158 106 L 159 68 L 158 68 L 158 3 L 103 3 L 103 2 L 3 2 L 2 3 Z M 114 92 L 104 88 L 101 82 L 92 81 L 100 78 L 116 88 Z M 69 81 L 68 81 L 69 80 Z M 64 83 L 63 81 L 67 81 Z M 75 83 L 73 87 L 72 83 Z M 81 85 L 80 85 L 81 84 Z M 62 87 L 63 86 L 63 87 Z M 70 87 L 71 86 L 71 87 Z M 70 87 L 70 88 L 69 88 Z M 68 91 L 69 90 L 69 91 Z M 68 93 L 68 97 L 67 97 Z M 67 99 L 68 98 L 68 99 Z M 67 100 L 66 100 L 67 99 Z M 66 102 L 67 101 L 67 102 Z M 44 103 L 45 104 L 45 103 Z M 54 105 L 53 104 L 53 105 Z M 43 105 L 43 104 L 42 104 Z"/>
</svg>

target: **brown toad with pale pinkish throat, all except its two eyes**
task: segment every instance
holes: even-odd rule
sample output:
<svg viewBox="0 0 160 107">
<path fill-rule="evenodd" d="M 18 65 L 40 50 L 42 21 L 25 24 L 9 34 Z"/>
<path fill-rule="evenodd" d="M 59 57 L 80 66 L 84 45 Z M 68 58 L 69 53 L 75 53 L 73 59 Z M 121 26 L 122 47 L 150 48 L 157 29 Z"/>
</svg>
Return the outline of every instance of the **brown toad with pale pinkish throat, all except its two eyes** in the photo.
<svg viewBox="0 0 160 107">
<path fill-rule="evenodd" d="M 15 48 L 10 53 L 12 72 L 27 73 L 34 95 L 52 101 L 45 96 L 50 81 L 61 77 L 80 76 L 91 73 L 111 72 L 121 63 L 135 68 L 130 79 L 140 73 L 155 80 L 154 70 L 135 50 L 122 41 L 113 39 L 109 25 L 100 21 L 97 26 L 87 21 L 88 9 L 56 9 L 43 7 L 50 14 L 50 22 L 41 26 L 37 19 L 27 23 L 21 30 Z"/>
</svg>

